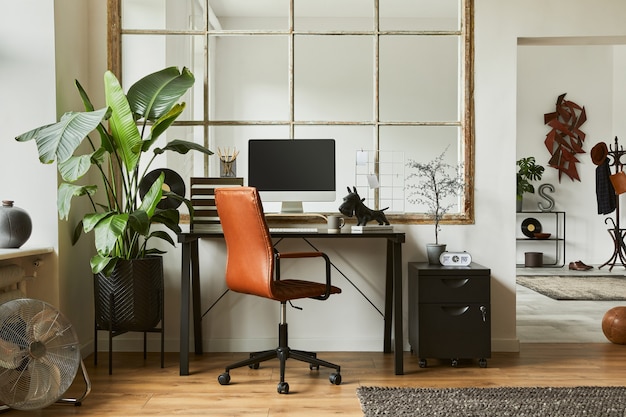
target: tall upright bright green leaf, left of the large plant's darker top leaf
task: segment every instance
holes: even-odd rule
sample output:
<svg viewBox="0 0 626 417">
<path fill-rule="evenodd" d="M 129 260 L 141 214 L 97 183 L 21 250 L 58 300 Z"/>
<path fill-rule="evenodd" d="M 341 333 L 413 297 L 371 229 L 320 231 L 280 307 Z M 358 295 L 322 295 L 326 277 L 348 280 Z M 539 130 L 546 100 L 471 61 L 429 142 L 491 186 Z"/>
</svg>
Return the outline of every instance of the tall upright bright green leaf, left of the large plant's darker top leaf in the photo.
<svg viewBox="0 0 626 417">
<path fill-rule="evenodd" d="M 113 142 L 126 170 L 131 172 L 139 162 L 142 139 L 122 86 L 111 71 L 104 74 L 104 93 L 112 110 L 109 128 Z"/>
</svg>

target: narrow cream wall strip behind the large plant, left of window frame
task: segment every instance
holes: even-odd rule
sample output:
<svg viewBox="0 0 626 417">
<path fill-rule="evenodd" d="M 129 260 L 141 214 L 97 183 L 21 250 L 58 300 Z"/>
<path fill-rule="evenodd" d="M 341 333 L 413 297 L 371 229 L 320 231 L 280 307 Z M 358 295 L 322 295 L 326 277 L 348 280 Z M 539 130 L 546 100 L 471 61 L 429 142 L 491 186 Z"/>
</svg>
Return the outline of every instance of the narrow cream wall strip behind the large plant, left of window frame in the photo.
<svg viewBox="0 0 626 417">
<path fill-rule="evenodd" d="M 75 80 L 85 88 L 96 107 L 104 103 L 106 2 L 56 0 L 55 28 L 57 118 L 60 118 L 65 112 L 84 110 Z M 99 178 L 98 172 L 90 172 L 83 181 L 100 184 Z M 77 331 L 83 354 L 93 350 L 93 275 L 89 266 L 94 252 L 93 234 L 83 235 L 75 246 L 71 236 L 75 225 L 90 209 L 88 199 L 75 198 L 69 220 L 58 221 L 60 304 Z"/>
</svg>

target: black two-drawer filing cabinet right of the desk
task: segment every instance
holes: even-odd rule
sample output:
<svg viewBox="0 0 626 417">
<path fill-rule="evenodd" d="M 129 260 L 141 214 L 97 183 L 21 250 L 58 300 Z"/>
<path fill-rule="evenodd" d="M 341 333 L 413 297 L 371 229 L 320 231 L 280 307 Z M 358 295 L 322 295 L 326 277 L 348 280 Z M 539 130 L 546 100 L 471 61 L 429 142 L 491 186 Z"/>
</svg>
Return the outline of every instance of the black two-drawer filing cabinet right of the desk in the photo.
<svg viewBox="0 0 626 417">
<path fill-rule="evenodd" d="M 426 367 L 426 358 L 491 357 L 491 270 L 469 266 L 409 263 L 409 342 Z"/>
</svg>

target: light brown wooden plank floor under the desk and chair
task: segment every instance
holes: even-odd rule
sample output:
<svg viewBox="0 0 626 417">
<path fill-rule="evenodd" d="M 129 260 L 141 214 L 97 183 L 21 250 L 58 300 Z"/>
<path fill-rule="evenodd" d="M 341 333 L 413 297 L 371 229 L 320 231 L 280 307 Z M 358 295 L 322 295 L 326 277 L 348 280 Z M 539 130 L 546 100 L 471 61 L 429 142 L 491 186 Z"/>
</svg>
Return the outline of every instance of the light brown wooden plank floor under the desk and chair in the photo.
<svg viewBox="0 0 626 417">
<path fill-rule="evenodd" d="M 221 386 L 217 376 L 224 365 L 244 358 L 241 353 L 191 356 L 189 376 L 179 376 L 178 355 L 167 354 L 165 368 L 157 353 L 146 361 L 141 353 L 115 353 L 113 375 L 106 354 L 93 366 L 87 358 L 92 391 L 81 407 L 53 404 L 38 411 L 9 410 L 15 416 L 362 416 L 355 391 L 358 386 L 497 387 L 624 385 L 626 346 L 592 344 L 522 344 L 520 353 L 494 353 L 487 368 L 476 361 L 428 360 L 420 368 L 405 353 L 405 375 L 393 374 L 393 355 L 340 352 L 319 356 L 341 365 L 341 385 L 328 381 L 329 369 L 309 371 L 308 365 L 287 362 L 290 393 L 276 392 L 277 361 L 258 370 L 231 371 L 231 384 Z M 67 396 L 80 392 L 77 379 Z"/>
</svg>

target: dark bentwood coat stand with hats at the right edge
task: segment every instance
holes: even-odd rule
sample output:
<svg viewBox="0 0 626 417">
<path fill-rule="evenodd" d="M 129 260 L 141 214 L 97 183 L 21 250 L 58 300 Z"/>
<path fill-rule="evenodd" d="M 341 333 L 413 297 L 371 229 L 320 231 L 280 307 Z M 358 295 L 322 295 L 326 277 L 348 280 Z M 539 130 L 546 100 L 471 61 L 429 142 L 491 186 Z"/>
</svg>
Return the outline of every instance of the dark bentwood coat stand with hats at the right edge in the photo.
<svg viewBox="0 0 626 417">
<path fill-rule="evenodd" d="M 600 265 L 598 268 L 602 268 L 606 265 L 610 265 L 609 271 L 613 269 L 615 265 L 621 263 L 626 267 L 626 245 L 624 244 L 624 238 L 626 237 L 626 229 L 622 229 L 620 226 L 620 213 L 619 213 L 619 197 L 626 192 L 626 173 L 623 171 L 624 164 L 621 158 L 626 154 L 626 151 L 619 145 L 617 136 L 615 137 L 615 143 L 609 145 L 606 155 L 606 164 L 613 168 L 613 174 L 610 175 L 610 182 L 614 189 L 615 198 L 615 211 L 613 219 L 607 217 L 604 219 L 606 225 L 611 227 L 607 229 L 609 235 L 613 239 L 613 254 L 608 261 Z M 610 172 L 610 168 L 609 168 Z M 596 182 L 597 184 L 597 182 Z"/>
</svg>

